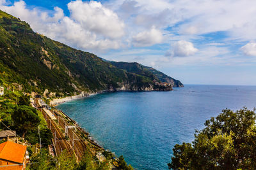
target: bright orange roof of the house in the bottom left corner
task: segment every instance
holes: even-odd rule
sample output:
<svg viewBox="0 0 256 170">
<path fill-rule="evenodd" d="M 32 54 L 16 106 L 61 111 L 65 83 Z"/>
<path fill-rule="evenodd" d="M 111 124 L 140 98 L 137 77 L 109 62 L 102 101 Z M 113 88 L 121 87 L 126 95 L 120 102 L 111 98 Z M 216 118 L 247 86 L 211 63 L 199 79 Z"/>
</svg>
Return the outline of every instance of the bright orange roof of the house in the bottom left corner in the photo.
<svg viewBox="0 0 256 170">
<path fill-rule="evenodd" d="M 22 164 L 27 146 L 6 141 L 0 144 L 0 159 L 10 160 Z"/>
</svg>

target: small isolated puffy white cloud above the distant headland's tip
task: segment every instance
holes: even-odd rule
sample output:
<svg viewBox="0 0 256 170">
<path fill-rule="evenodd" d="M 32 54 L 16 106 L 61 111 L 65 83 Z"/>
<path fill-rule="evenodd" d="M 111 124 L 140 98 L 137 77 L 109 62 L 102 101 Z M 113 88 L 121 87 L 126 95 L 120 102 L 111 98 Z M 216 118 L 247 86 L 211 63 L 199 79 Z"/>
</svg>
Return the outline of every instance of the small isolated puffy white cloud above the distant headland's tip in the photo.
<svg viewBox="0 0 256 170">
<path fill-rule="evenodd" d="M 173 57 L 188 57 L 194 55 L 196 52 L 198 52 L 198 49 L 189 41 L 177 41 L 172 47 Z"/>
</svg>

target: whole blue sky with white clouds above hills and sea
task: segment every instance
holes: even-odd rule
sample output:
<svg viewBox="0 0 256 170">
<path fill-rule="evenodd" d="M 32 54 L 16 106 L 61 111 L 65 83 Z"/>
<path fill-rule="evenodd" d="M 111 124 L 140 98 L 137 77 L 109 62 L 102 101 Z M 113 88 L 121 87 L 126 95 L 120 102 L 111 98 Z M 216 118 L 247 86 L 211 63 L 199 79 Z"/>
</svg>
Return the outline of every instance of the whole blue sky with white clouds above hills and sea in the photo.
<svg viewBox="0 0 256 170">
<path fill-rule="evenodd" d="M 0 0 L 33 31 L 184 84 L 256 85 L 255 0 Z"/>
</svg>

